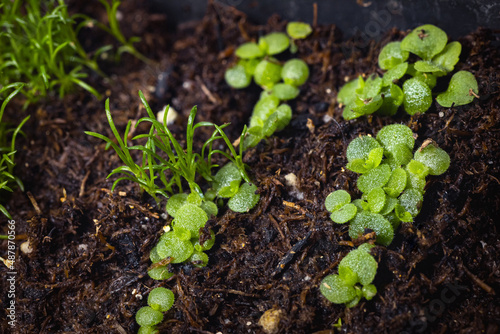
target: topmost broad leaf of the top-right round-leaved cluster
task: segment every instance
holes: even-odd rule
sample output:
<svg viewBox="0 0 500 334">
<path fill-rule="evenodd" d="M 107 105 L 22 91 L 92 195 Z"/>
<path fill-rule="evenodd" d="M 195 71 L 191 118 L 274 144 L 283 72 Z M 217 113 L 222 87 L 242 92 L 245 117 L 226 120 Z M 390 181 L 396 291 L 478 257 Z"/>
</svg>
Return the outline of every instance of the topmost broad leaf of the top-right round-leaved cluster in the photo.
<svg viewBox="0 0 500 334">
<path fill-rule="evenodd" d="M 448 36 L 446 33 L 432 24 L 426 24 L 415 28 L 401 41 L 401 50 L 416 54 L 424 60 L 443 51 Z"/>
</svg>

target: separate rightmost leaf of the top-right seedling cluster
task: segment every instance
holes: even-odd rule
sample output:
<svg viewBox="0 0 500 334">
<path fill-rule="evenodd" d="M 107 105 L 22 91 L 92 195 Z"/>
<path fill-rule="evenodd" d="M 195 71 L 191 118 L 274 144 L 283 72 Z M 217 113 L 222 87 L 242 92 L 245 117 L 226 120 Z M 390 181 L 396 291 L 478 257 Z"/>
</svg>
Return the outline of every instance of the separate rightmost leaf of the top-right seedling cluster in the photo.
<svg viewBox="0 0 500 334">
<path fill-rule="evenodd" d="M 476 78 L 470 72 L 459 71 L 451 77 L 448 89 L 439 94 L 436 101 L 446 108 L 462 106 L 474 100 L 473 93 L 478 94 Z"/>
</svg>

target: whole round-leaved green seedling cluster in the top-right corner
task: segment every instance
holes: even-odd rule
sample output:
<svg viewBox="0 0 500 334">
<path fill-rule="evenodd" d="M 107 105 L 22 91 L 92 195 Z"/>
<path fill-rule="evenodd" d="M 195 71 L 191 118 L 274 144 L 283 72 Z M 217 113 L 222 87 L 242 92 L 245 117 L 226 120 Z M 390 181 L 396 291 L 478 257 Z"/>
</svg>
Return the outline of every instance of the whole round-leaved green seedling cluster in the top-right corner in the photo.
<svg viewBox="0 0 500 334">
<path fill-rule="evenodd" d="M 414 29 L 401 42 L 385 45 L 378 58 L 380 68 L 386 70 L 383 77 L 372 74 L 365 80 L 359 76 L 340 89 L 337 102 L 345 106 L 343 117 L 349 120 L 374 112 L 392 116 L 401 105 L 410 115 L 426 112 L 437 79 L 453 71 L 462 51 L 459 42 L 447 42 L 443 30 L 427 24 Z M 420 60 L 409 63 L 410 53 Z M 460 106 L 472 102 L 477 93 L 474 75 L 459 71 L 436 101 L 443 107 Z"/>
</svg>

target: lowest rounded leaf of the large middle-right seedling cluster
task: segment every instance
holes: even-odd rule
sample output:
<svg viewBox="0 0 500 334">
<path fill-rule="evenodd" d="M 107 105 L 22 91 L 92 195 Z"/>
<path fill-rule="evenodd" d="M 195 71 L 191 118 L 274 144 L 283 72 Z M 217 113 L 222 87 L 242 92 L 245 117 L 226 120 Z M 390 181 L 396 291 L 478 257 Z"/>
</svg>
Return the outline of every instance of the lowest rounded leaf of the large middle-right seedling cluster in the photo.
<svg viewBox="0 0 500 334">
<path fill-rule="evenodd" d="M 352 239 L 363 235 L 365 228 L 375 231 L 377 243 L 388 246 L 394 238 L 394 230 L 391 223 L 378 213 L 369 211 L 358 212 L 349 226 L 349 236 Z"/>
</svg>

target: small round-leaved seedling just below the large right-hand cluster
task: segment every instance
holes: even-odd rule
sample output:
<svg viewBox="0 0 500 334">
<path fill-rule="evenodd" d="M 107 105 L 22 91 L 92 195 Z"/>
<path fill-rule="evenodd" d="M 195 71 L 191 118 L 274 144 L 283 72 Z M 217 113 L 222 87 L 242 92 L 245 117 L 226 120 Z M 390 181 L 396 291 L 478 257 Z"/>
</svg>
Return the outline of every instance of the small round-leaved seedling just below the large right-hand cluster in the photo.
<svg viewBox="0 0 500 334">
<path fill-rule="evenodd" d="M 339 264 L 338 275 L 328 275 L 320 285 L 320 291 L 335 304 L 356 306 L 361 298 L 371 300 L 377 288 L 371 284 L 377 273 L 377 261 L 370 255 L 373 245 L 363 244 L 347 254 Z"/>
</svg>

